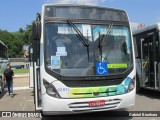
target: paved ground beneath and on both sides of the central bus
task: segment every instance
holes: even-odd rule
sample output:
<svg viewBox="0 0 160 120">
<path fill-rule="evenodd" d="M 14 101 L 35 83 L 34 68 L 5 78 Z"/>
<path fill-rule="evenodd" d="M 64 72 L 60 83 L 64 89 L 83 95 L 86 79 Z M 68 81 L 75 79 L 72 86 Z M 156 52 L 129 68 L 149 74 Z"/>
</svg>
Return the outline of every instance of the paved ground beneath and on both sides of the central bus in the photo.
<svg viewBox="0 0 160 120">
<path fill-rule="evenodd" d="M 18 86 L 18 81 L 23 81 L 24 86 L 28 83 L 27 78 L 17 78 L 15 79 L 15 90 L 14 97 L 11 98 L 8 96 L 8 93 L 0 94 L 0 111 L 34 111 L 34 98 L 33 90 L 28 89 L 27 87 Z M 22 84 L 21 84 L 22 85 Z M 18 89 L 16 89 L 18 88 Z M 105 111 L 98 113 L 89 113 L 89 114 L 79 114 L 79 115 L 68 115 L 68 116 L 49 116 L 42 118 L 2 118 L 0 120 L 160 120 L 160 117 L 122 117 L 128 114 L 133 114 L 138 112 L 142 114 L 143 112 L 148 111 L 153 113 L 153 111 L 160 111 L 160 92 L 143 90 L 141 93 L 136 95 L 136 104 L 135 106 L 116 110 L 116 111 Z M 158 113 L 160 114 L 160 112 Z M 121 116 L 121 117 L 120 117 Z"/>
</svg>

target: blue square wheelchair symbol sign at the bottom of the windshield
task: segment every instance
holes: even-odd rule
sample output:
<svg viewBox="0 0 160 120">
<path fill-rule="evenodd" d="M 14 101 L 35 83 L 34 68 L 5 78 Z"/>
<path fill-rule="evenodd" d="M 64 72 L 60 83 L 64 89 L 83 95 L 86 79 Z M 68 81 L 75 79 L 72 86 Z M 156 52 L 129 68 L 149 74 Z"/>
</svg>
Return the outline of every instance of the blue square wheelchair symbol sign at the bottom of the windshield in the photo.
<svg viewBox="0 0 160 120">
<path fill-rule="evenodd" d="M 96 74 L 97 75 L 107 75 L 108 68 L 106 62 L 97 62 L 96 63 Z"/>
</svg>

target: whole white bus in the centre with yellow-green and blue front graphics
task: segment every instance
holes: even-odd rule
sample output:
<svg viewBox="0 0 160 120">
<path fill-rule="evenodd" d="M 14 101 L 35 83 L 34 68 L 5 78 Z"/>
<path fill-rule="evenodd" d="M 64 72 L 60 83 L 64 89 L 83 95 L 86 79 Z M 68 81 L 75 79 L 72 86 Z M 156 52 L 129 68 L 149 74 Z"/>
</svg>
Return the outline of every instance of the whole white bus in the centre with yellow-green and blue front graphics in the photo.
<svg viewBox="0 0 160 120">
<path fill-rule="evenodd" d="M 135 55 L 125 11 L 43 5 L 33 24 L 36 110 L 73 114 L 135 104 Z"/>
</svg>

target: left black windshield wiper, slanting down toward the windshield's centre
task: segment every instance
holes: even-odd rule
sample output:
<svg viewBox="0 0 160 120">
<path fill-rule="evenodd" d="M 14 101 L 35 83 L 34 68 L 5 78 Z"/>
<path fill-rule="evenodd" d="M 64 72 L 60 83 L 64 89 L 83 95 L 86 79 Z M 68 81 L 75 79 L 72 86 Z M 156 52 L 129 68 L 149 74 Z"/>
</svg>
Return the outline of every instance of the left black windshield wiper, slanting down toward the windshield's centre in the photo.
<svg viewBox="0 0 160 120">
<path fill-rule="evenodd" d="M 73 27 L 73 29 L 77 33 L 76 36 L 78 37 L 78 39 L 81 41 L 81 43 L 85 47 L 87 47 L 87 54 L 88 54 L 88 61 L 89 61 L 89 44 L 88 44 L 88 40 L 83 36 L 81 31 L 76 27 L 76 25 L 71 20 L 67 20 L 67 23 Z"/>
</svg>

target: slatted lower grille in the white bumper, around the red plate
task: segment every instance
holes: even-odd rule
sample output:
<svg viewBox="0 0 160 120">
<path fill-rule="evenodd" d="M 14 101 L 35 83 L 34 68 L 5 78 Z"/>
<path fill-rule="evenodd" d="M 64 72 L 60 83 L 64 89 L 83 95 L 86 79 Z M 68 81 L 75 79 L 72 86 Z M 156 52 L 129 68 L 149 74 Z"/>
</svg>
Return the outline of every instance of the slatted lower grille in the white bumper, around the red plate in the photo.
<svg viewBox="0 0 160 120">
<path fill-rule="evenodd" d="M 121 103 L 121 99 L 110 99 L 105 102 L 103 106 L 90 107 L 88 102 L 75 102 L 68 105 L 73 112 L 91 112 L 91 111 L 103 111 L 110 110 L 118 107 Z"/>
</svg>

